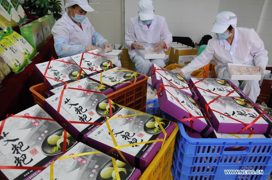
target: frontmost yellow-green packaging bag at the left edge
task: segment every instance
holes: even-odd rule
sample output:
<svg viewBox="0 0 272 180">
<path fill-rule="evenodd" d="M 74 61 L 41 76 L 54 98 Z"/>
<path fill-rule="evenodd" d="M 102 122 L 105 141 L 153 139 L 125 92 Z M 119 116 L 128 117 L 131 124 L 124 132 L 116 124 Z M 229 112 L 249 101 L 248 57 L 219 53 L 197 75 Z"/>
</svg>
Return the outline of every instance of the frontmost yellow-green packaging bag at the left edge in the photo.
<svg viewBox="0 0 272 180">
<path fill-rule="evenodd" d="M 24 59 L 20 50 L 0 35 L 0 56 L 8 64 L 11 71 L 19 73 L 30 61 Z"/>
</svg>

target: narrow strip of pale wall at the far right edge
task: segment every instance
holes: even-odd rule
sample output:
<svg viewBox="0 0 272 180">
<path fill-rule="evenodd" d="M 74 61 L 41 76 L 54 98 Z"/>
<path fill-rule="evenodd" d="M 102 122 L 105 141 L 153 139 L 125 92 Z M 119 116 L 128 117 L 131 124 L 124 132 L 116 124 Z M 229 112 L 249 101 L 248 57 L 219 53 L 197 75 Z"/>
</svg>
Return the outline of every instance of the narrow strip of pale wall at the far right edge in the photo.
<svg viewBox="0 0 272 180">
<path fill-rule="evenodd" d="M 272 65 L 272 0 L 265 0 L 257 33 L 268 51 L 268 64 Z"/>
</svg>

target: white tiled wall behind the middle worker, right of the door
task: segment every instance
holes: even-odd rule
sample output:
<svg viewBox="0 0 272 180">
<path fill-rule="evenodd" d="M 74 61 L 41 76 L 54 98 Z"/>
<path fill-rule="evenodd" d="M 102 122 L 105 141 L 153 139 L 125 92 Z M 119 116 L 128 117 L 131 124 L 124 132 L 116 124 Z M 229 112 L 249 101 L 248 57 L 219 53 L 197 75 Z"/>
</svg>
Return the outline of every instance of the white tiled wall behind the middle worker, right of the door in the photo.
<svg viewBox="0 0 272 180">
<path fill-rule="evenodd" d="M 199 43 L 210 32 L 220 0 L 153 0 L 155 14 L 164 16 L 173 36 Z M 125 0 L 125 30 L 131 17 L 138 16 L 138 0 Z"/>
</svg>

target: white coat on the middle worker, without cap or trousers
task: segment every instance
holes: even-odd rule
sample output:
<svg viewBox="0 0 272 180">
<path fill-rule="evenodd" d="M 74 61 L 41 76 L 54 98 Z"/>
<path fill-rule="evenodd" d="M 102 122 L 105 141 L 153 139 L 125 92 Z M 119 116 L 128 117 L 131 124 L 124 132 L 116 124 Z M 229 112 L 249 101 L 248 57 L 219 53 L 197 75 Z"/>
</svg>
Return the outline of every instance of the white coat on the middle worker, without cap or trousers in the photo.
<svg viewBox="0 0 272 180">
<path fill-rule="evenodd" d="M 131 50 L 131 43 L 136 41 L 141 42 L 145 47 L 153 47 L 164 41 L 168 48 L 172 43 L 172 33 L 168 29 L 165 18 L 154 15 L 149 28 L 143 24 L 139 16 L 131 18 L 125 35 L 125 45 L 128 47 L 130 57 L 138 55 L 135 50 Z"/>
</svg>

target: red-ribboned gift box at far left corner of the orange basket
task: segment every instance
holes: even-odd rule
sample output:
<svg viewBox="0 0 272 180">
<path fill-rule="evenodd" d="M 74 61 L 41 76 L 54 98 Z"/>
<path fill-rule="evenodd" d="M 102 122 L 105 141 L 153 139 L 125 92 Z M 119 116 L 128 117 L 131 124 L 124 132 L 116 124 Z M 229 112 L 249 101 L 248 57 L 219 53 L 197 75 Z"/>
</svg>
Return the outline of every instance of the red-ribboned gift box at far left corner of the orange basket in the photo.
<svg viewBox="0 0 272 180">
<path fill-rule="evenodd" d="M 36 72 L 40 77 L 44 78 L 45 71 L 45 83 L 49 90 L 65 83 L 77 81 L 79 75 L 80 79 L 88 77 L 70 57 L 51 60 L 36 65 Z"/>
</svg>

